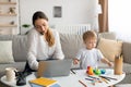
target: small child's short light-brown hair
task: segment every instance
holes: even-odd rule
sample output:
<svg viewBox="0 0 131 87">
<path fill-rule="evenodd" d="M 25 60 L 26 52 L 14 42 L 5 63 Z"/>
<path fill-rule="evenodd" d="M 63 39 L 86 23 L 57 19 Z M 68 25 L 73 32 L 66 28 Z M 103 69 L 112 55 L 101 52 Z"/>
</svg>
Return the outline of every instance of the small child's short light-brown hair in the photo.
<svg viewBox="0 0 131 87">
<path fill-rule="evenodd" d="M 83 40 L 85 41 L 86 39 L 97 39 L 97 35 L 93 30 L 87 30 L 83 34 Z"/>
</svg>

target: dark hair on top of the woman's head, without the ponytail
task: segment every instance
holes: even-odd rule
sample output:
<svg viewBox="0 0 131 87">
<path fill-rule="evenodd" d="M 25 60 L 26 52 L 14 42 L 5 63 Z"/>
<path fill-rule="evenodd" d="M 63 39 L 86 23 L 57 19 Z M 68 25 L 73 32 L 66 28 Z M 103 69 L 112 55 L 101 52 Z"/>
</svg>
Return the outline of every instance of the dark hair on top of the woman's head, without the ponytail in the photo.
<svg viewBox="0 0 131 87">
<path fill-rule="evenodd" d="M 48 21 L 48 17 L 46 16 L 46 14 L 44 12 L 37 11 L 33 15 L 33 25 L 35 25 L 35 21 L 38 18 L 44 18 L 44 20 Z"/>
</svg>

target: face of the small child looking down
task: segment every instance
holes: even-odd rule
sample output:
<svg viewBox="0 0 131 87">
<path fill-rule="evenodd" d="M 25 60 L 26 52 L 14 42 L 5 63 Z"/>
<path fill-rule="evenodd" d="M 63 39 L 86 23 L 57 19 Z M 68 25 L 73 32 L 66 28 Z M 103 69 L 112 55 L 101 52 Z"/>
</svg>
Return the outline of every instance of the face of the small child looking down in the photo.
<svg viewBox="0 0 131 87">
<path fill-rule="evenodd" d="M 96 39 L 90 38 L 90 39 L 86 39 L 86 40 L 84 41 L 84 44 L 85 44 L 86 48 L 87 48 L 88 50 L 91 50 L 91 49 L 93 49 L 93 48 L 96 47 L 96 41 L 97 41 Z"/>
</svg>

